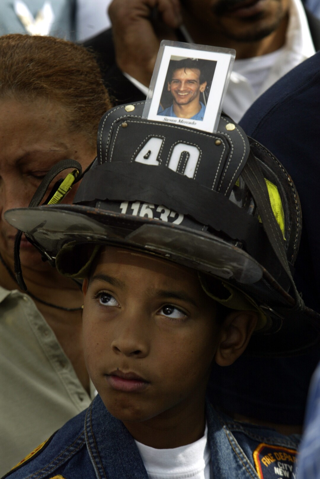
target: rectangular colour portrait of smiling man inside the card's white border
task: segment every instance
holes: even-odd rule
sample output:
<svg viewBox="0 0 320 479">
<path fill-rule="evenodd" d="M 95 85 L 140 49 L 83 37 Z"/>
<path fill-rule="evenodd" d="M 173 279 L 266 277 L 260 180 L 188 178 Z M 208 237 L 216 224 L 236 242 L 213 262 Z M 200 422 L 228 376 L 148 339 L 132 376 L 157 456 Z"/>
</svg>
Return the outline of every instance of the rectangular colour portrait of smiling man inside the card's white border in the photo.
<svg viewBox="0 0 320 479">
<path fill-rule="evenodd" d="M 171 59 L 158 114 L 202 121 L 215 66 L 210 60 Z M 168 99 L 171 104 L 164 108 Z"/>
</svg>

